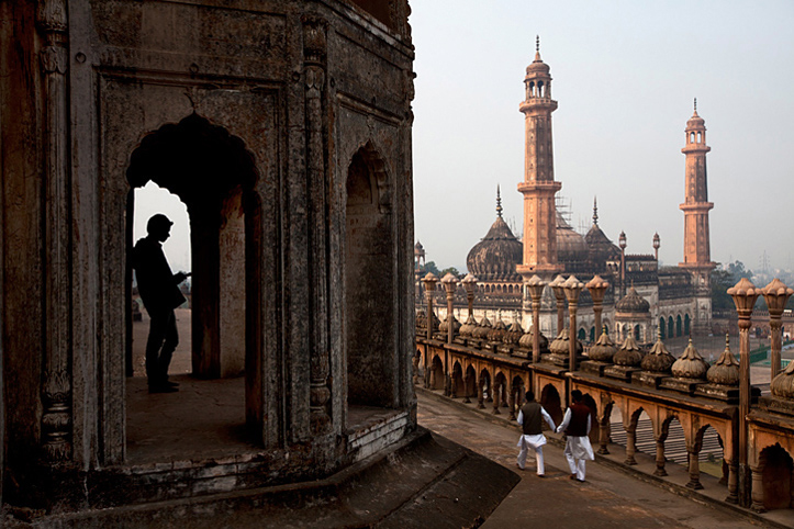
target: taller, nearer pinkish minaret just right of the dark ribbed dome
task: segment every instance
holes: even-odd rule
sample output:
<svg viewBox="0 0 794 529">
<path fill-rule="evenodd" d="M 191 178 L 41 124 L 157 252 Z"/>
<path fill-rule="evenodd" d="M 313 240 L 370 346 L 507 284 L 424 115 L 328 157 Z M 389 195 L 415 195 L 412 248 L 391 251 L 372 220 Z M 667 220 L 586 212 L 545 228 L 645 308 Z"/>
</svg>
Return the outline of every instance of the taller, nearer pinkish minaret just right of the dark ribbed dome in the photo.
<svg viewBox="0 0 794 529">
<path fill-rule="evenodd" d="M 540 59 L 540 40 L 536 41 L 535 60 L 524 78 L 526 98 L 518 106 L 525 114 L 524 181 L 524 259 L 516 267 L 525 280 L 539 274 L 549 280 L 560 271 L 557 263 L 557 207 L 555 194 L 562 188 L 555 182 L 551 147 L 551 99 L 549 67 Z"/>
</svg>

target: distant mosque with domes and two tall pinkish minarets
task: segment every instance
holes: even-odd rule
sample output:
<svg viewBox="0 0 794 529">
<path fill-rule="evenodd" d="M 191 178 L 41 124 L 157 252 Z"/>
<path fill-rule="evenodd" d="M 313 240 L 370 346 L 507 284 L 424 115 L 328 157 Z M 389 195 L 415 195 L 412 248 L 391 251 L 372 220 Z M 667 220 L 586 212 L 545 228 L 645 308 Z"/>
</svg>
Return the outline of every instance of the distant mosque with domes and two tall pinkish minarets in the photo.
<svg viewBox="0 0 794 529">
<path fill-rule="evenodd" d="M 658 234 L 650 241 L 652 252 L 628 254 L 625 233 L 615 244 L 601 229 L 597 202 L 585 235 L 577 233 L 558 207 L 556 195 L 562 183 L 555 180 L 553 170 L 551 113 L 558 103 L 551 99 L 551 80 L 538 46 L 526 69 L 525 100 L 519 105 L 525 114 L 525 175 L 517 185 L 524 195 L 523 240 L 503 220 L 497 191 L 496 220 L 467 256 L 468 271 L 478 280 L 476 317 L 487 316 L 492 324 L 521 322 L 528 329 L 533 322 L 525 281 L 535 274 L 547 283 L 558 275 L 575 275 L 586 283 L 597 275 L 612 286 L 604 300 L 602 323 L 611 333 L 615 330 L 618 339 L 631 334 L 637 341 L 649 344 L 657 334 L 662 338 L 708 335 L 709 273 L 715 267 L 709 254 L 708 211 L 714 204 L 707 196 L 705 122 L 696 106 L 686 122 L 682 149 L 686 155 L 686 192 L 681 204 L 684 260 L 679 266 L 660 266 Z M 424 256 L 425 249 L 421 250 Z M 579 315 L 578 338 L 594 342 L 601 333 L 586 291 Z M 544 335 L 557 336 L 556 318 L 553 290 L 546 289 L 539 318 Z"/>
</svg>

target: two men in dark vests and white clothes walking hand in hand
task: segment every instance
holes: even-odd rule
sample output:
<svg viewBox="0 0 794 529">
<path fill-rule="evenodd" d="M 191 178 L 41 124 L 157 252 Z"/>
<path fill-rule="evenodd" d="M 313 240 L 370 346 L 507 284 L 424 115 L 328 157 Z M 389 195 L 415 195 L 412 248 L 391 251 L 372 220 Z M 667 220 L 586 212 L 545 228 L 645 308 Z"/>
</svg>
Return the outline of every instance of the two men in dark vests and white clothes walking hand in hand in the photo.
<svg viewBox="0 0 794 529">
<path fill-rule="evenodd" d="M 532 391 L 526 392 L 526 404 L 518 412 L 517 421 L 522 425 L 522 436 L 518 439 L 518 459 L 516 465 L 524 470 L 526 466 L 526 458 L 528 449 L 535 451 L 535 460 L 537 463 L 537 474 L 544 477 L 546 468 L 544 465 L 543 447 L 546 444 L 546 436 L 543 435 L 541 419 L 549 425 L 552 430 L 558 434 L 566 432 L 566 450 L 564 455 L 568 460 L 568 466 L 571 470 L 571 480 L 579 482 L 584 481 L 585 461 L 595 459 L 593 447 L 590 444 L 591 419 L 590 408 L 582 403 L 582 392 L 573 390 L 571 392 L 571 405 L 566 409 L 562 423 L 555 427 L 551 416 L 544 409 L 540 403 L 535 402 L 535 394 Z"/>
</svg>

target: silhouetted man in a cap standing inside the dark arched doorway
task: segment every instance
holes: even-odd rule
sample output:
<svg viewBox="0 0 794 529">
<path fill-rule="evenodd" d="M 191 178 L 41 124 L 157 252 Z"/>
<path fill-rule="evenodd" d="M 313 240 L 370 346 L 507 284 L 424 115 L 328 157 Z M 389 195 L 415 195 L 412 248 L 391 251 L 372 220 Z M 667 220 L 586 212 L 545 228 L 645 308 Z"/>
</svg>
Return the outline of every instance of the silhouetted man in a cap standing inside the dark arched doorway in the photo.
<svg viewBox="0 0 794 529">
<path fill-rule="evenodd" d="M 176 382 L 168 381 L 168 365 L 179 344 L 177 318 L 174 309 L 186 302 L 179 283 L 188 273 L 171 273 L 163 243 L 171 235 L 174 223 L 158 213 L 146 224 L 148 235 L 135 244 L 133 267 L 135 268 L 138 292 L 149 313 L 149 337 L 146 340 L 146 376 L 149 393 L 174 393 Z"/>
</svg>

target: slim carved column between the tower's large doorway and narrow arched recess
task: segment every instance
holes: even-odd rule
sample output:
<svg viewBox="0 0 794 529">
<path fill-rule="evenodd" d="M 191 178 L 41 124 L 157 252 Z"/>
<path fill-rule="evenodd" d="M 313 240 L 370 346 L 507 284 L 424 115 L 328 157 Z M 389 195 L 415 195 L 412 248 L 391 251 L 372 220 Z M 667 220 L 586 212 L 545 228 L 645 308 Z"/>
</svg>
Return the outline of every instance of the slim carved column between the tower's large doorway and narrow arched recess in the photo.
<svg viewBox="0 0 794 529">
<path fill-rule="evenodd" d="M 314 18 L 303 20 L 303 59 L 305 81 L 306 112 L 306 169 L 311 204 L 309 250 L 314 256 L 325 256 L 325 223 L 327 196 L 325 193 L 325 55 L 326 55 L 325 21 Z M 329 344 L 326 327 L 327 312 L 327 272 L 326 262 L 320 257 L 310 260 L 312 284 L 312 317 L 315 333 L 312 334 L 311 346 L 311 397 L 310 421 L 312 432 L 322 434 L 331 426 L 331 389 Z"/>
</svg>

